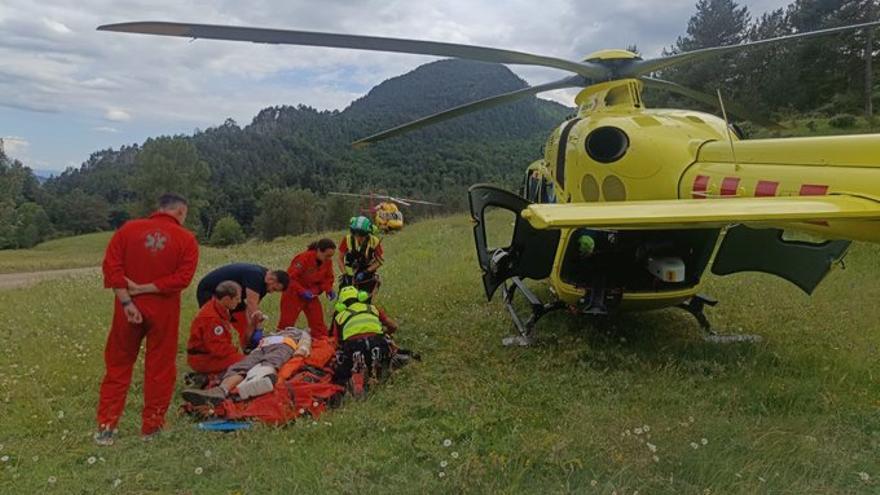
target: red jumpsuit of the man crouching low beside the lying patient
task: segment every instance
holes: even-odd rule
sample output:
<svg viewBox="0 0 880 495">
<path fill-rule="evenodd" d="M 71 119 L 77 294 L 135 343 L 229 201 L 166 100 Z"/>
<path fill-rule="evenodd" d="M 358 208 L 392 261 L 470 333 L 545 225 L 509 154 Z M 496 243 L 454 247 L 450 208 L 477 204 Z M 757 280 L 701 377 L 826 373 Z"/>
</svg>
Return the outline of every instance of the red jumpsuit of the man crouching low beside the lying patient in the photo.
<svg viewBox="0 0 880 495">
<path fill-rule="evenodd" d="M 202 306 L 189 329 L 186 362 L 198 373 L 222 373 L 244 359 L 232 343 L 229 310 L 211 298 Z"/>
</svg>

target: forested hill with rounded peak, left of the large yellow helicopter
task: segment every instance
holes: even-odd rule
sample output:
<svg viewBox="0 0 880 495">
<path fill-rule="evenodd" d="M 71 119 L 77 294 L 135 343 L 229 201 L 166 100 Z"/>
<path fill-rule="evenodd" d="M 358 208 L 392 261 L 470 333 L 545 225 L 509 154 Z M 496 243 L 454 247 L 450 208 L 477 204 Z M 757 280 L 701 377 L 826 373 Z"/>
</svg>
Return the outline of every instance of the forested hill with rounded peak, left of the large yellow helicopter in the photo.
<svg viewBox="0 0 880 495">
<path fill-rule="evenodd" d="M 572 110 L 532 98 L 367 149 L 354 150 L 351 142 L 524 86 L 501 65 L 433 62 L 378 85 L 341 112 L 272 107 L 245 126 L 227 120 L 193 136 L 94 153 L 44 184 L 45 204 L 57 230 L 79 234 L 115 227 L 148 210 L 160 191 L 174 190 L 194 203 L 191 227 L 206 238 L 224 217 L 265 238 L 338 227 L 357 205 L 324 198 L 328 191 L 387 191 L 460 210 L 469 184 L 513 185 Z"/>
</svg>

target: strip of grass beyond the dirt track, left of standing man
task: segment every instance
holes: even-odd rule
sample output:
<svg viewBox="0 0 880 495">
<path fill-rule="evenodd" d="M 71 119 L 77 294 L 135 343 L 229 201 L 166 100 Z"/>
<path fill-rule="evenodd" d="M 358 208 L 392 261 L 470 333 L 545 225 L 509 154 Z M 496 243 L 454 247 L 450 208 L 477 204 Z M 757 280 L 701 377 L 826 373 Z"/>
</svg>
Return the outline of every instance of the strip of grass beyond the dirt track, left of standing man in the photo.
<svg viewBox="0 0 880 495">
<path fill-rule="evenodd" d="M 98 266 L 112 232 L 44 242 L 33 249 L 0 250 L 0 273 Z"/>
</svg>

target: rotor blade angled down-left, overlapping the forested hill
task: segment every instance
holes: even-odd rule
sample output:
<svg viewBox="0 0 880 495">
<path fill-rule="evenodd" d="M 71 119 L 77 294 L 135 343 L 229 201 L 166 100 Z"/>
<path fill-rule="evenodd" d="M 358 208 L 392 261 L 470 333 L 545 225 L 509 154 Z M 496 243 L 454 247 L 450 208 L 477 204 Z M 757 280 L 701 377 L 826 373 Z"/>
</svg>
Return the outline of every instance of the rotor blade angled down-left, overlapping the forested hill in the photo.
<svg viewBox="0 0 880 495">
<path fill-rule="evenodd" d="M 553 91 L 555 89 L 564 89 L 564 88 L 579 88 L 584 87 L 589 84 L 582 76 L 569 76 L 564 79 L 560 79 L 558 81 L 553 81 L 545 84 L 539 84 L 537 86 L 529 86 L 523 89 L 518 89 L 516 91 L 511 91 L 509 93 L 503 93 L 500 95 L 489 96 L 487 98 L 483 98 L 482 100 L 472 101 L 470 103 L 465 103 L 463 105 L 459 105 L 457 107 L 450 108 L 449 110 L 443 110 L 441 112 L 437 112 L 435 114 L 429 115 L 427 117 L 422 117 L 417 120 L 413 120 L 407 122 L 405 124 L 401 124 L 397 127 L 393 127 L 391 129 L 384 130 L 382 132 L 373 134 L 372 136 L 365 137 L 363 139 L 358 139 L 352 146 L 359 148 L 362 146 L 366 146 L 368 144 L 373 144 L 375 142 L 381 141 L 383 139 L 388 139 L 390 137 L 398 136 L 400 134 L 404 134 L 410 131 L 414 131 L 416 129 L 421 129 L 422 127 L 427 127 L 429 125 L 434 125 L 445 120 L 453 119 L 455 117 L 459 117 L 461 115 L 465 115 L 472 112 L 477 112 L 480 110 L 485 110 L 487 108 L 496 107 L 498 105 L 503 105 L 505 103 L 512 103 L 516 100 L 534 96 L 538 93 L 543 93 L 545 91 Z"/>
</svg>

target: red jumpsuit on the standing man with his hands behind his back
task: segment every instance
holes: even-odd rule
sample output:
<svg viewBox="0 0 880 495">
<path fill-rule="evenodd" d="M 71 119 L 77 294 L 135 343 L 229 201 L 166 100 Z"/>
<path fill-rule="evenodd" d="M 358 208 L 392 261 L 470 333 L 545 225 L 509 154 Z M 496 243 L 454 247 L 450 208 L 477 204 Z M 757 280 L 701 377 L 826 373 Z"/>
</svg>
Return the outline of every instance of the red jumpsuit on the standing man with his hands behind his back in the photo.
<svg viewBox="0 0 880 495">
<path fill-rule="evenodd" d="M 177 376 L 180 292 L 189 286 L 198 262 L 195 236 L 166 213 L 126 222 L 110 239 L 104 254 L 104 287 L 126 288 L 128 277 L 139 284 L 155 284 L 159 292 L 132 299 L 143 315 L 143 323 L 137 325 L 128 322 L 118 298 L 114 298 L 113 324 L 104 349 L 106 372 L 98 401 L 99 428 L 116 428 L 145 338 L 141 433 L 153 433 L 165 424 Z"/>
</svg>

